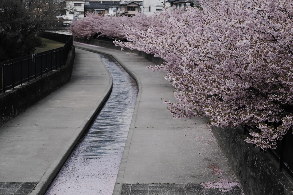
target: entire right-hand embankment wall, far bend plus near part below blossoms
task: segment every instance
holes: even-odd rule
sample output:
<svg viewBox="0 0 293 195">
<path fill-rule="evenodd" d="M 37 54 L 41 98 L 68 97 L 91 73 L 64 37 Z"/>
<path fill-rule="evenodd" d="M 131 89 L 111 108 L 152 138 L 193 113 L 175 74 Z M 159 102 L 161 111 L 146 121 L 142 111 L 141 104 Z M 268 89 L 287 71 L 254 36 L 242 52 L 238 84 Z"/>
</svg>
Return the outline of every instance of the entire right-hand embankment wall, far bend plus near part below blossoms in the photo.
<svg viewBox="0 0 293 195">
<path fill-rule="evenodd" d="M 98 39 L 75 39 L 76 42 L 92 44 L 110 49 L 120 49 L 112 41 Z M 125 48 L 125 51 L 139 54 L 153 63 L 161 64 L 163 59 L 137 50 Z M 278 163 L 269 153 L 246 143 L 241 129 L 212 127 L 219 146 L 227 156 L 237 180 L 246 195 L 292 195 L 293 180 L 284 170 L 279 172 Z"/>
</svg>

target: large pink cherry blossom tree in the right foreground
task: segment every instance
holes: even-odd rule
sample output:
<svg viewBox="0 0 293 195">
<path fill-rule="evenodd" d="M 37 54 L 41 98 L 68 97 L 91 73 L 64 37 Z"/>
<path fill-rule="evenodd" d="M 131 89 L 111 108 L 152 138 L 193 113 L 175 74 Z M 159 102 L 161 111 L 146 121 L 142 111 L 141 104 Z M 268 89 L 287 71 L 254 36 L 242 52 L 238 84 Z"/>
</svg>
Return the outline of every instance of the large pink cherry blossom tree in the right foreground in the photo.
<svg viewBox="0 0 293 195">
<path fill-rule="evenodd" d="M 115 44 L 163 58 L 179 102 L 175 118 L 208 116 L 218 127 L 248 125 L 249 143 L 275 148 L 293 126 L 293 5 L 285 0 L 202 0 L 157 16 L 161 30 L 122 27 Z M 274 128 L 274 122 L 282 125 Z"/>
</svg>

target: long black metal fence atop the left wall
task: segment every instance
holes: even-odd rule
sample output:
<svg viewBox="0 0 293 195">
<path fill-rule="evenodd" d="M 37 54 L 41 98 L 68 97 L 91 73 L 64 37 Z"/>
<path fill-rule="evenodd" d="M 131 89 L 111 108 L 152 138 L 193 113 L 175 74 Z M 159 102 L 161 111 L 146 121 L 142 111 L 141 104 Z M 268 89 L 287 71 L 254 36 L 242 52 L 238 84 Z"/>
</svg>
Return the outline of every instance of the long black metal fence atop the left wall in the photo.
<svg viewBox="0 0 293 195">
<path fill-rule="evenodd" d="M 56 33 L 46 33 L 45 38 L 54 38 Z M 49 35 L 52 35 L 51 37 Z M 60 42 L 65 42 L 63 47 L 44 51 L 38 54 L 32 54 L 21 58 L 16 58 L 8 61 L 1 62 L 0 65 L 0 81 L 1 92 L 5 93 L 6 90 L 22 85 L 24 82 L 30 82 L 38 76 L 48 74 L 50 71 L 57 70 L 57 67 L 65 65 L 69 51 L 73 45 L 71 35 L 55 35 L 62 37 Z"/>
</svg>

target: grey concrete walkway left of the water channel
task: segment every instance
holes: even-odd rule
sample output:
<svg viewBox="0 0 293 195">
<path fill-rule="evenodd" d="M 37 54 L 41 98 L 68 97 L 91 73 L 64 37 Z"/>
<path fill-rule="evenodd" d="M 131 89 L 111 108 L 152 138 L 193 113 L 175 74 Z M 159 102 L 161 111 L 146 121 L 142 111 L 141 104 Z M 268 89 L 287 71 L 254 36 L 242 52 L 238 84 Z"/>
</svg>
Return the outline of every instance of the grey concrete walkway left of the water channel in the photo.
<svg viewBox="0 0 293 195">
<path fill-rule="evenodd" d="M 0 127 L 0 194 L 44 194 L 111 88 L 99 55 L 76 49 L 69 83 Z"/>
</svg>

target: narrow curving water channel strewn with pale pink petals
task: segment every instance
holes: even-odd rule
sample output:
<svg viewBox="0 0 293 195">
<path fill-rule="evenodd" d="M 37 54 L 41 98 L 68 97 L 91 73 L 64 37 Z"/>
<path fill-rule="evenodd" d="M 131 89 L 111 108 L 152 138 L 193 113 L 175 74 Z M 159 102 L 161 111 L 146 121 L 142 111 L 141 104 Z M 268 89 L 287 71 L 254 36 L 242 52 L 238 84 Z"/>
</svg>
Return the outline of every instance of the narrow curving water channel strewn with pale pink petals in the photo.
<svg viewBox="0 0 293 195">
<path fill-rule="evenodd" d="M 113 77 L 112 93 L 47 195 L 113 193 L 138 89 L 112 56 L 99 55 Z"/>
</svg>

